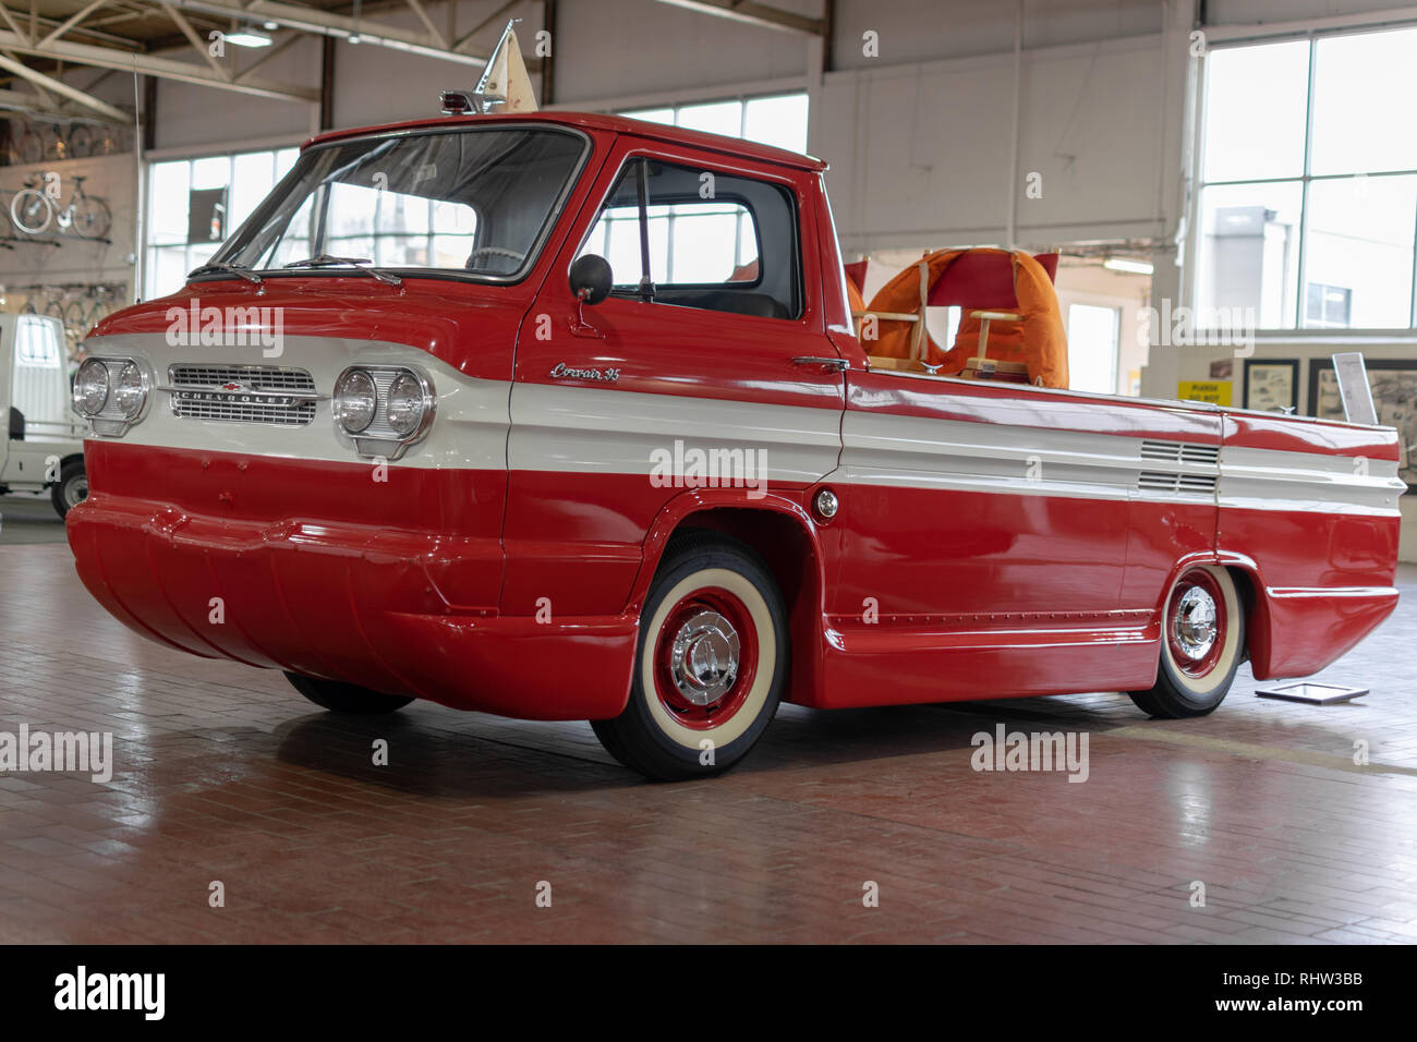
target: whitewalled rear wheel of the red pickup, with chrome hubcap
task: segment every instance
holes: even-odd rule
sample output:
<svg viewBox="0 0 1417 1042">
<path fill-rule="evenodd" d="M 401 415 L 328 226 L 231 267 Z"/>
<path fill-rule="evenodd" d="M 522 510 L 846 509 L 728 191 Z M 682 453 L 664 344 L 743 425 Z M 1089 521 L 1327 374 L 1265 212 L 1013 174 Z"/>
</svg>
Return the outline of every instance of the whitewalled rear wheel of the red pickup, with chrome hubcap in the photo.
<svg viewBox="0 0 1417 1042">
<path fill-rule="evenodd" d="M 1152 716 L 1179 720 L 1219 706 L 1244 658 L 1244 607 L 1224 568 L 1186 568 L 1166 595 L 1156 686 L 1131 692 Z"/>
</svg>

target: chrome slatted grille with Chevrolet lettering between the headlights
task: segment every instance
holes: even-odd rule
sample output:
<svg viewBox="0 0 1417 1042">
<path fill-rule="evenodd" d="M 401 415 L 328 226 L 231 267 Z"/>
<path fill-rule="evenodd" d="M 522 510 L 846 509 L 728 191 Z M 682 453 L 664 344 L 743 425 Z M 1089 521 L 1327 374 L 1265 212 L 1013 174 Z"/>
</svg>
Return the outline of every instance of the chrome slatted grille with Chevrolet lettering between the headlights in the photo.
<svg viewBox="0 0 1417 1042">
<path fill-rule="evenodd" d="M 299 427 L 315 420 L 315 377 L 293 366 L 180 362 L 167 367 L 173 415 Z"/>
</svg>

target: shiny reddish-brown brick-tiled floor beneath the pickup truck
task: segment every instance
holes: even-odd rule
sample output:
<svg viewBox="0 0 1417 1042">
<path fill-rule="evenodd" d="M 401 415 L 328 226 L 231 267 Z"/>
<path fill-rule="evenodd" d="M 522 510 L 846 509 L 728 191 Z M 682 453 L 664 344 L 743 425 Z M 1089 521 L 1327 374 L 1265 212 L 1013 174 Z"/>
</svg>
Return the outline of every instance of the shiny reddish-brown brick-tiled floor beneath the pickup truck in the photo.
<svg viewBox="0 0 1417 1042">
<path fill-rule="evenodd" d="M 785 707 L 738 770 L 656 785 L 585 724 L 334 720 L 278 673 L 130 635 L 65 546 L 0 546 L 0 732 L 116 736 L 106 784 L 0 774 L 0 941 L 1411 943 L 1403 583 L 1328 671 L 1360 703 L 1255 699 L 1246 673 L 1179 723 L 1118 695 Z M 973 771 L 998 723 L 1085 732 L 1087 781 Z"/>
</svg>

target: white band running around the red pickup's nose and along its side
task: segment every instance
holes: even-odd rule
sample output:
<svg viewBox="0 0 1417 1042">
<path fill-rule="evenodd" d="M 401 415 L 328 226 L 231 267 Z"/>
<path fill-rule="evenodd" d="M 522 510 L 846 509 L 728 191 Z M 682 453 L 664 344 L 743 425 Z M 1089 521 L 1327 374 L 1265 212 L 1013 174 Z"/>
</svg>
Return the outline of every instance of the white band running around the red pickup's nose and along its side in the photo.
<svg viewBox="0 0 1417 1042">
<path fill-rule="evenodd" d="M 288 336 L 272 364 L 298 366 L 329 393 L 349 364 L 422 367 L 438 393 L 427 441 L 395 466 L 553 471 L 649 476 L 676 442 L 765 454 L 767 481 L 887 485 L 1000 495 L 1217 503 L 1233 509 L 1397 516 L 1406 488 L 1391 461 L 1224 447 L 1170 451 L 1155 438 L 972 420 L 643 394 L 618 387 L 476 380 L 411 347 Z M 169 347 L 160 335 L 91 340 L 102 356 L 146 360 L 162 383 L 174 362 L 261 364 L 259 349 Z M 1098 407 L 1105 403 L 1098 403 Z M 1029 414 L 1037 420 L 1037 411 Z M 509 437 L 510 434 L 510 437 Z M 174 417 L 153 391 L 125 444 L 360 464 L 336 431 L 330 403 L 307 425 Z M 1145 455 L 1144 455 L 1145 451 Z M 755 456 L 761 458 L 761 456 Z M 1213 488 L 1212 488 L 1213 485 Z"/>
</svg>

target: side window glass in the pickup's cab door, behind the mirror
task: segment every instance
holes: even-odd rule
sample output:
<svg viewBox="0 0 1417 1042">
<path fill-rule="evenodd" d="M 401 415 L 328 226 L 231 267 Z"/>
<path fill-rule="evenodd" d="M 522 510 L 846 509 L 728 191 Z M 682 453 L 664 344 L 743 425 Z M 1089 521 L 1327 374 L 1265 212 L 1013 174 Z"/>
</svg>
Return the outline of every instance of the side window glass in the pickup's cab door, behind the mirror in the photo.
<svg viewBox="0 0 1417 1042">
<path fill-rule="evenodd" d="M 802 313 L 796 207 L 767 181 L 632 159 L 580 254 L 609 261 L 622 296 L 777 319 Z"/>
</svg>

